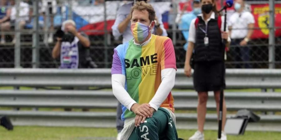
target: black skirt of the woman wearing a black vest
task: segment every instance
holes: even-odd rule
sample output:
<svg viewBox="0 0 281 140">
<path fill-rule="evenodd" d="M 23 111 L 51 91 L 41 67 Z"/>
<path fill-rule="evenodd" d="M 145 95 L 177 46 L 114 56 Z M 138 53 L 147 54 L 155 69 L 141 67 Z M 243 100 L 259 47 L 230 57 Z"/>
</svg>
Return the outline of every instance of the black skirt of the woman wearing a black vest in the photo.
<svg viewBox="0 0 281 140">
<path fill-rule="evenodd" d="M 225 88 L 225 66 L 222 61 L 195 62 L 193 84 L 197 92 Z M 223 80 L 223 81 L 222 81 Z"/>
</svg>

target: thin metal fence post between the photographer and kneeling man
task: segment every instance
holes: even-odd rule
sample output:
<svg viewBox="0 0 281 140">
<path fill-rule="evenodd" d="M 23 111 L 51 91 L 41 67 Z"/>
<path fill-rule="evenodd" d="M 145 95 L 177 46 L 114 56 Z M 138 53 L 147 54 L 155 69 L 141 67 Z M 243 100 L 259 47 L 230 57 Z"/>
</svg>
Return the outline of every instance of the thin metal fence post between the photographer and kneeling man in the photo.
<svg viewBox="0 0 281 140">
<path fill-rule="evenodd" d="M 104 2 L 104 63 L 107 68 L 108 63 L 108 52 L 107 52 L 107 22 L 106 22 L 106 1 Z"/>
</svg>

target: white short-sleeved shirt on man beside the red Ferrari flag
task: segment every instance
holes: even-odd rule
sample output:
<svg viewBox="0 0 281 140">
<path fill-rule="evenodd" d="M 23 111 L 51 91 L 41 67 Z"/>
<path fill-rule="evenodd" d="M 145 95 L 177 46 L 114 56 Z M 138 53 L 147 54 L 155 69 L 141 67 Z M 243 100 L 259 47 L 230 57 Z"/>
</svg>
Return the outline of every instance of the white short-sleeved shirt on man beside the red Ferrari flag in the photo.
<svg viewBox="0 0 281 140">
<path fill-rule="evenodd" d="M 229 19 L 229 26 L 232 26 L 232 39 L 243 39 L 248 33 L 248 24 L 255 23 L 254 16 L 248 11 L 241 13 L 235 12 Z"/>
</svg>

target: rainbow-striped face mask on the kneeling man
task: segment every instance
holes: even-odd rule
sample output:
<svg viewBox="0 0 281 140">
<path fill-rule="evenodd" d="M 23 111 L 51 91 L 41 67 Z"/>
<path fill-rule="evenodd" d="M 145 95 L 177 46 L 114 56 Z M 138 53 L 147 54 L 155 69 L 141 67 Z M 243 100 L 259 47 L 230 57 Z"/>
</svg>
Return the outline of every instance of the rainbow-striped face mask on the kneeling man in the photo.
<svg viewBox="0 0 281 140">
<path fill-rule="evenodd" d="M 152 23 L 152 22 L 151 22 Z M 150 26 L 151 26 L 150 23 Z M 133 33 L 134 39 L 137 42 L 142 42 L 149 35 L 150 26 L 142 24 L 140 22 L 136 22 L 131 25 L 131 31 Z"/>
</svg>

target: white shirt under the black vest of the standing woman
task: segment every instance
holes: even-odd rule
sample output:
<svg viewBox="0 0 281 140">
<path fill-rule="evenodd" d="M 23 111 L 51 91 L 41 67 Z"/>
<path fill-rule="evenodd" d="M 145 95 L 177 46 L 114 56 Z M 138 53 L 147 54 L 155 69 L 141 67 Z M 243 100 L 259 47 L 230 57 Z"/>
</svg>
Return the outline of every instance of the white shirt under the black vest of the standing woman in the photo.
<svg viewBox="0 0 281 140">
<path fill-rule="evenodd" d="M 204 19 L 203 17 L 203 14 L 199 14 L 198 16 L 201 16 L 202 19 Z M 197 18 L 193 19 L 190 23 L 190 27 L 189 27 L 189 36 L 188 36 L 188 41 L 189 42 L 192 42 L 192 43 L 196 43 L 196 39 L 195 39 L 195 36 L 196 36 L 196 28 L 195 28 L 195 20 Z M 212 12 L 211 16 L 209 19 L 207 19 L 207 21 L 205 21 L 205 24 L 208 24 L 208 22 L 211 20 L 211 19 L 215 19 L 215 13 Z M 221 31 L 224 31 L 224 16 L 221 16 L 221 27 L 220 27 L 220 30 Z M 226 25 L 226 32 L 228 32 L 228 27 Z M 228 37 L 227 39 L 228 42 L 230 42 L 230 37 Z"/>
</svg>

